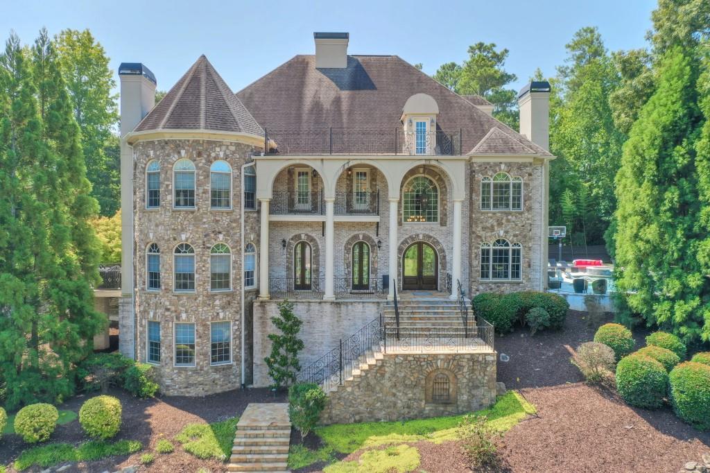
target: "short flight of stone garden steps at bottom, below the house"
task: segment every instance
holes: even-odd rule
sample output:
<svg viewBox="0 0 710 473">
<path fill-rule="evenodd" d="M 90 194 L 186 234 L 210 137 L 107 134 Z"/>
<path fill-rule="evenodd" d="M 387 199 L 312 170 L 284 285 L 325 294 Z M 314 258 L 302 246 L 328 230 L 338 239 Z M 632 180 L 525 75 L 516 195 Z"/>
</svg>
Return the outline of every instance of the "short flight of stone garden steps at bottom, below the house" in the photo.
<svg viewBox="0 0 710 473">
<path fill-rule="evenodd" d="M 286 473 L 291 422 L 287 403 L 251 403 L 236 424 L 229 472 Z"/>
</svg>

